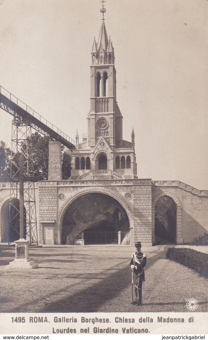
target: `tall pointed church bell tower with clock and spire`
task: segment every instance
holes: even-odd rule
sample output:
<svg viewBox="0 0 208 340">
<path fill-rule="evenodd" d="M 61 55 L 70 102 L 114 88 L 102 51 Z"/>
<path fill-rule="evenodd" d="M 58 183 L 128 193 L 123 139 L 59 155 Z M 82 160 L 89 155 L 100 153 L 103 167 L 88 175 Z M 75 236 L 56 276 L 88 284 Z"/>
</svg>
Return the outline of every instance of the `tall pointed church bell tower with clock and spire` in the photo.
<svg viewBox="0 0 208 340">
<path fill-rule="evenodd" d="M 88 141 L 96 145 L 100 136 L 108 137 L 111 148 L 122 146 L 122 115 L 116 101 L 116 69 L 114 48 L 105 27 L 104 5 L 98 42 L 94 38 L 90 66 L 90 116 Z"/>
</svg>

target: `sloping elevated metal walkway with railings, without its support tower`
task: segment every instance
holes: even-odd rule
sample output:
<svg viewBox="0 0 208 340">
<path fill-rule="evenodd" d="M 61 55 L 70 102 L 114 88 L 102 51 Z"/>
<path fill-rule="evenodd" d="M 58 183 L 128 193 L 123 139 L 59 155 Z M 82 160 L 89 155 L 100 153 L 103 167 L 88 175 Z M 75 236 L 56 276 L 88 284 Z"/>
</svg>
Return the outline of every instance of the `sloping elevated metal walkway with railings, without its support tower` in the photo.
<svg viewBox="0 0 208 340">
<path fill-rule="evenodd" d="M 0 86 L 0 108 L 14 118 L 23 120 L 25 124 L 30 125 L 31 128 L 42 135 L 54 138 L 69 149 L 75 149 L 75 141 L 73 139 L 60 131 L 56 126 L 40 116 L 30 106 L 23 103 L 2 86 Z"/>
</svg>

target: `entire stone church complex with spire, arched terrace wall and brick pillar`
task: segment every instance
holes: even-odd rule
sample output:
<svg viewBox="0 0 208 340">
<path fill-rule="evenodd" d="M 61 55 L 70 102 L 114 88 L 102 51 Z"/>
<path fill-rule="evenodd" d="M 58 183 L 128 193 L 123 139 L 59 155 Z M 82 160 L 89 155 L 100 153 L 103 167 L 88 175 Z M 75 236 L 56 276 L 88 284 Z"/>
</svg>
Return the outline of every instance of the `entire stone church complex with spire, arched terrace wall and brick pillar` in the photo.
<svg viewBox="0 0 208 340">
<path fill-rule="evenodd" d="M 208 190 L 175 180 L 138 179 L 134 130 L 131 141 L 122 136 L 114 60 L 103 19 L 91 52 L 88 134 L 79 142 L 76 133 L 68 180 L 62 180 L 60 143 L 49 142 L 48 181 L 35 189 L 39 244 L 74 244 L 98 229 L 122 232 L 125 244 L 155 244 L 155 207 L 163 197 L 175 205 L 176 244 L 208 231 Z M 9 195 L 9 184 L 0 183 L 1 242 Z"/>
</svg>

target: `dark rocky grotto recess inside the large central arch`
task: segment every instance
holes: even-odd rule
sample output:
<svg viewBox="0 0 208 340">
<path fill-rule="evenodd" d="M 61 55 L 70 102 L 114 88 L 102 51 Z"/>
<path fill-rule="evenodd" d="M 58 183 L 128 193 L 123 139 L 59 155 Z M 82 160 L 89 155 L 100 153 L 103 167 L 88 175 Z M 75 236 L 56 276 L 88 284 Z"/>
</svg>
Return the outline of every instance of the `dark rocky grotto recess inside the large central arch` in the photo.
<svg viewBox="0 0 208 340">
<path fill-rule="evenodd" d="M 65 212 L 62 244 L 118 244 L 129 232 L 129 219 L 122 205 L 102 193 L 84 194 L 73 201 Z"/>
</svg>

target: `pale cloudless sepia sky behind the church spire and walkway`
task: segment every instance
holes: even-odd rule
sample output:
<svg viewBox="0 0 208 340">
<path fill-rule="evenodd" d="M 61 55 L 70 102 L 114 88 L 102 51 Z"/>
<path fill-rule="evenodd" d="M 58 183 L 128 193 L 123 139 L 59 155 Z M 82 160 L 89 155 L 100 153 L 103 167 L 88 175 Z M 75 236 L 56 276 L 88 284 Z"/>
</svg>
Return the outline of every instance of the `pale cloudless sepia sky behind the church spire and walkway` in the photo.
<svg viewBox="0 0 208 340">
<path fill-rule="evenodd" d="M 123 139 L 138 178 L 208 189 L 207 1 L 106 0 Z M 0 85 L 75 139 L 87 133 L 99 0 L 0 0 Z M 0 140 L 12 116 L 0 109 Z"/>
</svg>

